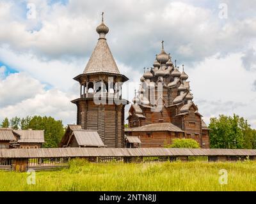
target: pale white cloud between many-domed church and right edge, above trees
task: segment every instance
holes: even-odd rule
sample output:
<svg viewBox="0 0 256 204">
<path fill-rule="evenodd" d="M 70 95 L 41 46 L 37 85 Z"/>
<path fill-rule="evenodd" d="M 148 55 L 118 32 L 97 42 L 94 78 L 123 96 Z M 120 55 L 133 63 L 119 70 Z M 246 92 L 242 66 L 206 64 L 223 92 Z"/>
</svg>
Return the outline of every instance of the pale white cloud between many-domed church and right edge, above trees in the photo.
<svg viewBox="0 0 256 204">
<path fill-rule="evenodd" d="M 198 104 L 205 122 L 219 114 L 238 114 L 248 119 L 256 128 L 256 92 L 252 91 L 255 75 L 243 68 L 241 56 L 232 54 L 225 58 L 209 57 L 195 69 L 186 68 L 194 101 Z"/>
</svg>

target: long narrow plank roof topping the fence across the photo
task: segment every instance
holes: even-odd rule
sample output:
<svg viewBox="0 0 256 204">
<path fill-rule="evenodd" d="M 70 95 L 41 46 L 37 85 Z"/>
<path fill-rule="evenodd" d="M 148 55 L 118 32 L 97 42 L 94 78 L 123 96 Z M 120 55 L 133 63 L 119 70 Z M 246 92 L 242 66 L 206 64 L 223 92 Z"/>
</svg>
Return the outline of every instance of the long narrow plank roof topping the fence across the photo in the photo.
<svg viewBox="0 0 256 204">
<path fill-rule="evenodd" d="M 0 158 L 90 157 L 90 156 L 256 156 L 252 149 L 182 148 L 42 148 L 0 149 Z"/>
</svg>

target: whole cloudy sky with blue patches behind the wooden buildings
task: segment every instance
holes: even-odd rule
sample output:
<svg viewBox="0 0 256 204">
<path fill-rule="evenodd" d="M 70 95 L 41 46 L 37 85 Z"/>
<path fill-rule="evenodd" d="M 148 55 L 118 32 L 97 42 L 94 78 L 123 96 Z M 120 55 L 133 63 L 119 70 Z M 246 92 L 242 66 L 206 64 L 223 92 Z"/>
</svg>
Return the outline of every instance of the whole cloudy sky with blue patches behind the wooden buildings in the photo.
<svg viewBox="0 0 256 204">
<path fill-rule="evenodd" d="M 83 73 L 104 11 L 109 47 L 129 78 L 123 96 L 131 101 L 164 40 L 205 122 L 236 113 L 256 128 L 255 10 L 255 0 L 0 0 L 0 121 L 47 115 L 76 123 L 72 78 Z"/>
</svg>

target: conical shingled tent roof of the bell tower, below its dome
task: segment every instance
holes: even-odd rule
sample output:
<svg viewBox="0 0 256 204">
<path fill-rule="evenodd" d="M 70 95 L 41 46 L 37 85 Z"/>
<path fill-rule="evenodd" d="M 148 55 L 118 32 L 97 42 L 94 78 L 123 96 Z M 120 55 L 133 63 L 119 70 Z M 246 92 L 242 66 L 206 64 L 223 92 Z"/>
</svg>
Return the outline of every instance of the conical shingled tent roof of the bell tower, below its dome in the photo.
<svg viewBox="0 0 256 204">
<path fill-rule="evenodd" d="M 100 72 L 120 74 L 115 59 L 108 47 L 108 43 L 104 38 L 99 39 L 84 69 L 84 74 Z"/>
</svg>

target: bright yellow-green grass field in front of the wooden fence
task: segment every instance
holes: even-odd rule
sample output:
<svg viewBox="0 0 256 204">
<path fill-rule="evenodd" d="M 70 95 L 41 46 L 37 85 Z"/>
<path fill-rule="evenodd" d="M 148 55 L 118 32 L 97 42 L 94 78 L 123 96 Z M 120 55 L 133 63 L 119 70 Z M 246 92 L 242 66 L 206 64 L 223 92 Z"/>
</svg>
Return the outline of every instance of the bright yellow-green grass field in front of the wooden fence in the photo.
<svg viewBox="0 0 256 204">
<path fill-rule="evenodd" d="M 219 183 L 219 171 L 228 184 Z M 256 191 L 256 162 L 94 164 L 72 161 L 70 168 L 27 173 L 0 171 L 0 191 Z"/>
</svg>

